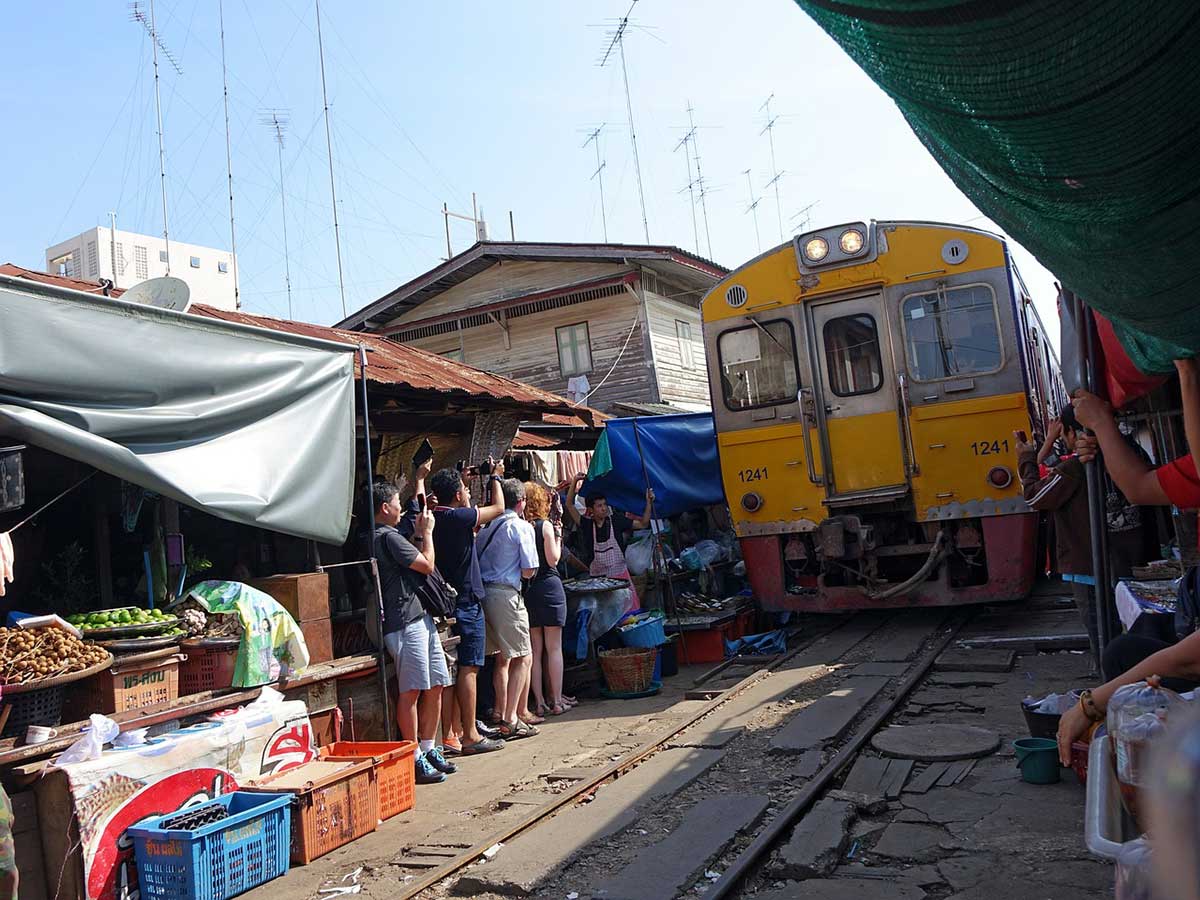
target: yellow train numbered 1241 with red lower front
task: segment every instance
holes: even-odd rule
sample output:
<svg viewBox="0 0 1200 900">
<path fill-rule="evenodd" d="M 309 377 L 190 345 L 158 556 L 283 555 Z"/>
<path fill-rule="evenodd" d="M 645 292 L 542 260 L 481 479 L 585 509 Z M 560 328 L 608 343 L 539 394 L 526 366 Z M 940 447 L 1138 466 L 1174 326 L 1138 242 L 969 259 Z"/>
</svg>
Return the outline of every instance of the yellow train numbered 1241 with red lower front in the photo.
<svg viewBox="0 0 1200 900">
<path fill-rule="evenodd" d="M 721 478 L 763 608 L 1030 592 L 1044 551 L 1014 432 L 1043 434 L 1068 401 L 1002 236 L 809 230 L 731 271 L 701 316 Z"/>
</svg>

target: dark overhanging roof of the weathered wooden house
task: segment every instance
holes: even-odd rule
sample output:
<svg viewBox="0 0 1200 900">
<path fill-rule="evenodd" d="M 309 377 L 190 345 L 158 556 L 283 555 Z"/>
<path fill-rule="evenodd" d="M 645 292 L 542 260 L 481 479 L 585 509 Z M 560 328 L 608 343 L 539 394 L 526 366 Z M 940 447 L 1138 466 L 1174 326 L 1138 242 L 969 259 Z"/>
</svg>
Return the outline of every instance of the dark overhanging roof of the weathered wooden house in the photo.
<svg viewBox="0 0 1200 900">
<path fill-rule="evenodd" d="M 420 306 L 426 300 L 473 278 L 499 260 L 527 262 L 618 262 L 654 263 L 676 277 L 698 277 L 713 282 L 728 275 L 728 269 L 710 259 L 668 245 L 644 244 L 565 244 L 544 241 L 479 241 L 434 269 L 406 284 L 389 290 L 373 304 L 337 323 L 344 328 L 371 328 L 371 319 L 383 322 Z M 376 325 L 379 322 L 374 323 Z"/>
</svg>

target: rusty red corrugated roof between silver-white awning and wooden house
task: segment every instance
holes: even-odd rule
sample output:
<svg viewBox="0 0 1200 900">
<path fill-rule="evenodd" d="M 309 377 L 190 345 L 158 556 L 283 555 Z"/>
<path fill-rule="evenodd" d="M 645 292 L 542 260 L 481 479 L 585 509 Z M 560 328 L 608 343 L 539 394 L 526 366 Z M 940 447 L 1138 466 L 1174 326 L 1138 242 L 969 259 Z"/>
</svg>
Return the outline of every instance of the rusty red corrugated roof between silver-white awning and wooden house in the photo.
<svg viewBox="0 0 1200 900">
<path fill-rule="evenodd" d="M 244 325 L 258 325 L 294 335 L 320 337 L 326 341 L 361 343 L 367 348 L 367 380 L 374 384 L 407 388 L 413 391 L 468 396 L 480 401 L 490 401 L 494 406 L 523 407 L 542 414 L 556 414 L 556 419 L 559 415 L 577 418 L 583 420 L 584 427 L 594 427 L 607 418 L 589 407 L 572 406 L 557 394 L 515 382 L 511 378 L 484 372 L 463 362 L 456 362 L 416 347 L 396 343 L 385 337 L 325 325 L 312 325 L 307 322 L 290 322 L 270 316 L 218 310 L 204 304 L 193 304 L 188 312 L 226 322 L 238 322 Z M 358 360 L 354 364 L 354 372 L 358 377 Z"/>
</svg>

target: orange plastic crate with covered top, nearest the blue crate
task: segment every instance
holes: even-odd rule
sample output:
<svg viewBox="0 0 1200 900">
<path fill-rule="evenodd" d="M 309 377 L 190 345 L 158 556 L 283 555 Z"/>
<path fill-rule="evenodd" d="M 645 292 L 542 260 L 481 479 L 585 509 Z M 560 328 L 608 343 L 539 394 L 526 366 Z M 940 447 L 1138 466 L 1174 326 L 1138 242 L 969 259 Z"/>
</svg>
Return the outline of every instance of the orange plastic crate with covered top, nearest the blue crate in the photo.
<svg viewBox="0 0 1200 900">
<path fill-rule="evenodd" d="M 245 787 L 254 793 L 295 794 L 292 862 L 307 865 L 379 824 L 374 760 L 306 762 Z"/>
</svg>

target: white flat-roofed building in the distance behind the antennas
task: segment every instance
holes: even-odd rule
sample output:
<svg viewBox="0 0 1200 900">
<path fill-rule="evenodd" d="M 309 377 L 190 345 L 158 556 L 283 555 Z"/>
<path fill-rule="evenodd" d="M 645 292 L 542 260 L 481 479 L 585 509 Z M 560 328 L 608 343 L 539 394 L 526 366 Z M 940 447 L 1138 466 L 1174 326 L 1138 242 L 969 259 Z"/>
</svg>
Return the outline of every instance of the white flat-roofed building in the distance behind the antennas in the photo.
<svg viewBox="0 0 1200 900">
<path fill-rule="evenodd" d="M 192 290 L 192 302 L 235 310 L 234 257 L 227 250 L 170 241 L 170 275 Z M 162 235 L 112 228 L 89 228 L 46 251 L 46 271 L 73 278 L 110 278 L 114 287 L 167 275 L 167 244 Z"/>
</svg>

